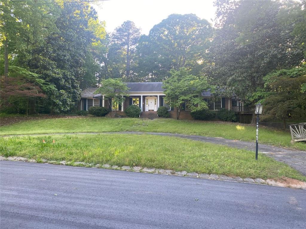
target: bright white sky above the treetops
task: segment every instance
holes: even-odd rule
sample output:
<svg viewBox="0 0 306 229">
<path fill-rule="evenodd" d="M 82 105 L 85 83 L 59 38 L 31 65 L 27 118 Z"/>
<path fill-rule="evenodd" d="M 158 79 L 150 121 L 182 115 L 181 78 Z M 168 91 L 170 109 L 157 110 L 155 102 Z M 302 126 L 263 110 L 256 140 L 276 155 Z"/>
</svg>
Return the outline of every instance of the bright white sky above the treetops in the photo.
<svg viewBox="0 0 306 229">
<path fill-rule="evenodd" d="M 172 13 L 193 13 L 210 23 L 215 17 L 213 0 L 109 0 L 94 7 L 110 33 L 126 20 L 140 27 L 142 34 L 148 34 L 154 25 Z"/>
</svg>

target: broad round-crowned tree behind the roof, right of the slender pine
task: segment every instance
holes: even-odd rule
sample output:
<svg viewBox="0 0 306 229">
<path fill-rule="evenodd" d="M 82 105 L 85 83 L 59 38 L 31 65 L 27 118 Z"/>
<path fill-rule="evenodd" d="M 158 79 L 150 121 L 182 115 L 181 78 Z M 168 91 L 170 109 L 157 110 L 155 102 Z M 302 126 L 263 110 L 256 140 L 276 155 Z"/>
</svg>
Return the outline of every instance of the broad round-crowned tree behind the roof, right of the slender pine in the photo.
<svg viewBox="0 0 306 229">
<path fill-rule="evenodd" d="M 185 67 L 199 75 L 212 27 L 194 14 L 171 14 L 140 38 L 138 74 L 143 81 L 161 81 L 170 69 Z"/>
</svg>

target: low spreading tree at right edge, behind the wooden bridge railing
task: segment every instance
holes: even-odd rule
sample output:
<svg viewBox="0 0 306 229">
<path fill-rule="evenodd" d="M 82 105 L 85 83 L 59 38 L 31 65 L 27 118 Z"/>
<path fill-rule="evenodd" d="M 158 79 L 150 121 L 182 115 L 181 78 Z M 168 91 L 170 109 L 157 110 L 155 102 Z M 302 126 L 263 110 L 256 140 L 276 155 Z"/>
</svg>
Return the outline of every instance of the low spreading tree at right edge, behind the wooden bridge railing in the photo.
<svg viewBox="0 0 306 229">
<path fill-rule="evenodd" d="M 262 95 L 263 119 L 286 121 L 306 119 L 306 67 L 283 69 L 264 77 L 265 88 Z"/>
</svg>

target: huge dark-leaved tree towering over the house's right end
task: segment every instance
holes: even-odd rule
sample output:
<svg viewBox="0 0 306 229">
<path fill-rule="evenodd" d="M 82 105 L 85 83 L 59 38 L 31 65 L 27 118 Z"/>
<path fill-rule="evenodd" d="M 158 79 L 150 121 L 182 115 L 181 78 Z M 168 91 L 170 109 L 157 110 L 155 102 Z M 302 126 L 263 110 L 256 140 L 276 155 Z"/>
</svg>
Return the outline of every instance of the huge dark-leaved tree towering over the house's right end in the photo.
<svg viewBox="0 0 306 229">
<path fill-rule="evenodd" d="M 264 76 L 301 63 L 302 50 L 288 32 L 293 24 L 281 22 L 292 5 L 288 2 L 215 1 L 217 30 L 208 49 L 209 82 L 254 105 L 253 93 L 264 87 Z"/>
</svg>

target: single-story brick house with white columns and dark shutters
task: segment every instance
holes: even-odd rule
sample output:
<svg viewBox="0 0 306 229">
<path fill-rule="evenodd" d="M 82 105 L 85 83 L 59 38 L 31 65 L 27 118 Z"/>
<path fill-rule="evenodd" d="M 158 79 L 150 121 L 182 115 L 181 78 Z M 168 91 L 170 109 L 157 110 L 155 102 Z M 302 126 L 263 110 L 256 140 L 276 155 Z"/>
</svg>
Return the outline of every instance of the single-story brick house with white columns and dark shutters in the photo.
<svg viewBox="0 0 306 229">
<path fill-rule="evenodd" d="M 87 111 L 89 107 L 106 107 L 117 110 L 118 115 L 124 116 L 124 110 L 129 105 L 138 105 L 141 109 L 141 118 L 154 118 L 157 117 L 157 109 L 160 106 L 168 107 L 170 118 L 176 118 L 176 108 L 171 107 L 171 104 L 166 104 L 164 101 L 164 89 L 162 89 L 162 82 L 139 82 L 139 83 L 126 83 L 130 88 L 127 92 L 129 96 L 124 96 L 125 101 L 114 107 L 111 99 L 104 100 L 104 96 L 96 94 L 97 88 L 87 88 L 81 93 L 81 101 L 79 103 L 79 110 Z M 243 102 L 237 99 L 235 95 L 232 97 L 222 97 L 218 101 L 213 100 L 213 95 L 209 91 L 201 93 L 203 99 L 207 101 L 210 110 L 220 110 L 225 108 L 233 110 L 236 113 L 250 113 L 245 111 Z M 180 119 L 192 119 L 190 115 L 190 104 L 183 104 L 180 114 Z"/>
</svg>

